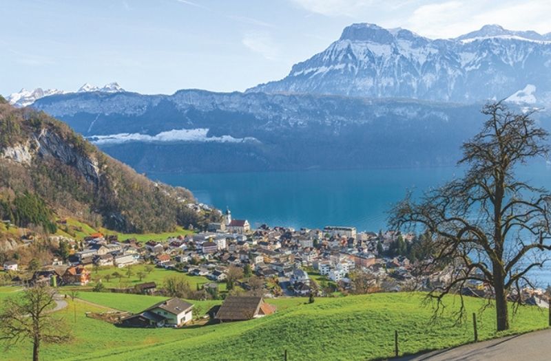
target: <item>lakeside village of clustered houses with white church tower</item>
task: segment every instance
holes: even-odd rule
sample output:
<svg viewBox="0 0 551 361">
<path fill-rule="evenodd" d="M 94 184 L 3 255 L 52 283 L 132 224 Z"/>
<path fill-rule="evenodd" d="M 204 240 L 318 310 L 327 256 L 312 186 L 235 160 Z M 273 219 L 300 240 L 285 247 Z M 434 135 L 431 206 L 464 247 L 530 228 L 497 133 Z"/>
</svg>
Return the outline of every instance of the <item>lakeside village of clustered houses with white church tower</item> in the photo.
<svg viewBox="0 0 551 361">
<path fill-rule="evenodd" d="M 195 207 L 200 211 L 205 206 Z M 229 210 L 221 222 L 209 223 L 205 230 L 164 241 L 123 240 L 96 232 L 81 242 L 61 242 L 68 255 L 54 258 L 51 265 L 4 261 L 4 274 L 9 275 L 3 276 L 4 283 L 171 297 L 140 313 L 119 315 L 115 323 L 123 327 L 183 327 L 205 318 L 209 322 L 249 320 L 276 310 L 265 301 L 270 298 L 309 297 L 313 302 L 316 297 L 347 294 L 430 291 L 457 272 L 453 267 L 419 272 L 416 234 L 357 232 L 344 226 L 252 229 L 249 221 L 232 219 Z M 153 271 L 155 280 L 148 280 Z M 167 286 L 177 282 L 168 281 L 174 274 L 185 278 L 179 286 Z M 491 287 L 472 281 L 459 292 L 486 298 Z M 547 305 L 541 290 L 523 298 Z M 193 317 L 194 305 L 189 301 L 194 299 L 223 303 Z"/>
</svg>

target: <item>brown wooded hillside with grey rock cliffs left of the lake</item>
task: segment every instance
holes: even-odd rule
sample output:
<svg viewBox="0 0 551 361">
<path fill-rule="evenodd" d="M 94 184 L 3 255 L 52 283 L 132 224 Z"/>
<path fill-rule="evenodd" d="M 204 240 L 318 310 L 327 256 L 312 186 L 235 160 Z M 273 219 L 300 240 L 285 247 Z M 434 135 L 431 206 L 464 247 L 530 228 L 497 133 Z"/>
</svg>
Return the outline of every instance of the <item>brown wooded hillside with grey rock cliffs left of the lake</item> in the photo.
<svg viewBox="0 0 551 361">
<path fill-rule="evenodd" d="M 161 232 L 200 221 L 184 188 L 150 181 L 63 122 L 0 99 L 0 218 L 55 231 L 77 217 L 122 232 Z"/>
</svg>

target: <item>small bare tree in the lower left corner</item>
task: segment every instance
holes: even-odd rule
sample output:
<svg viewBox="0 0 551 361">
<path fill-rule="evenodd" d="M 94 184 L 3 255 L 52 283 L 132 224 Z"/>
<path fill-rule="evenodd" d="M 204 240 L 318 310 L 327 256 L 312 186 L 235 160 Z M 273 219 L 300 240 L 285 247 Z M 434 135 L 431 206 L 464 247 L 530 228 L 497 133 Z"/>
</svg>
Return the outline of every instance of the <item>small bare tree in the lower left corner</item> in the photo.
<svg viewBox="0 0 551 361">
<path fill-rule="evenodd" d="M 10 348 L 25 339 L 32 341 L 32 360 L 38 361 L 41 344 L 70 340 L 65 322 L 49 313 L 56 302 L 55 290 L 37 285 L 23 291 L 23 296 L 3 300 L 0 311 L 0 340 Z"/>
</svg>

